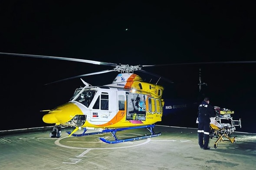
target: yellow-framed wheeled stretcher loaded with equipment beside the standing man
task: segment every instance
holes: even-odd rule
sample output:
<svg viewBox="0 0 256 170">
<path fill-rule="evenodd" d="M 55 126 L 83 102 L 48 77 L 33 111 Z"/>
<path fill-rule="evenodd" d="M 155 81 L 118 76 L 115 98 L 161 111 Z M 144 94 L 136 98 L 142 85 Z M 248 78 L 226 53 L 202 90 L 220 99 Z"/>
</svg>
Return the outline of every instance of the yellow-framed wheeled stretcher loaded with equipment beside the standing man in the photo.
<svg viewBox="0 0 256 170">
<path fill-rule="evenodd" d="M 233 135 L 233 132 L 236 130 L 235 126 L 241 125 L 241 119 L 233 120 L 231 115 L 234 114 L 234 111 L 230 109 L 220 108 L 218 106 L 214 106 L 216 117 L 210 118 L 210 138 L 217 138 L 214 142 L 214 148 L 218 147 L 218 142 L 224 141 L 224 137 L 227 138 L 231 143 L 236 142 L 236 137 L 230 137 L 229 135 Z"/>
</svg>

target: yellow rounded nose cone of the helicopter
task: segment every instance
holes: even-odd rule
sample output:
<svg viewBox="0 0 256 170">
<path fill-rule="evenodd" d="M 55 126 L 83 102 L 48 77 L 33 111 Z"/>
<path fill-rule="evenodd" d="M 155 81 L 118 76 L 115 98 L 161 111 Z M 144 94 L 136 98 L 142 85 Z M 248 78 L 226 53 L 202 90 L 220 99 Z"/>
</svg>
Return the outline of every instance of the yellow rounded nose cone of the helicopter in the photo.
<svg viewBox="0 0 256 170">
<path fill-rule="evenodd" d="M 83 113 L 74 103 L 65 103 L 44 115 L 43 122 L 49 124 L 65 124 L 73 119 L 75 115 L 83 115 Z"/>
</svg>

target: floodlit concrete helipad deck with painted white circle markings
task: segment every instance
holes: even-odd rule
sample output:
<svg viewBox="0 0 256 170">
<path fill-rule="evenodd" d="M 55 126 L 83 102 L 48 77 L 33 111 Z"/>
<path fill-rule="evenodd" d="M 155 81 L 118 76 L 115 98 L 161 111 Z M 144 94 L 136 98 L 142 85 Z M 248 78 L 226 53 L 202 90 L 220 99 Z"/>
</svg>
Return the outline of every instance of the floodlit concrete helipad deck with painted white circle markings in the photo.
<svg viewBox="0 0 256 170">
<path fill-rule="evenodd" d="M 197 129 L 156 125 L 161 135 L 139 141 L 107 144 L 111 134 L 49 138 L 52 128 L 0 133 L 0 170 L 255 170 L 256 134 L 234 132 L 210 150 L 197 144 Z M 90 130 L 94 132 L 93 130 Z M 78 133 L 78 132 L 77 132 Z M 117 132 L 118 138 L 144 135 L 147 129 Z"/>
</svg>

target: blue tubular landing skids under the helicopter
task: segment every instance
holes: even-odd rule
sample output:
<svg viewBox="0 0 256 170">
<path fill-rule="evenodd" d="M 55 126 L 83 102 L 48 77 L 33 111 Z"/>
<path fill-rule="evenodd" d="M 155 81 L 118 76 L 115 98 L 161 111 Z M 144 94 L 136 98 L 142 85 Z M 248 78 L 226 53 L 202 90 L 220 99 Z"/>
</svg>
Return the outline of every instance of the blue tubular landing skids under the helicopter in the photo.
<svg viewBox="0 0 256 170">
<path fill-rule="evenodd" d="M 101 132 L 91 132 L 91 133 L 85 133 L 87 129 L 84 128 L 84 132 L 82 134 L 72 134 L 72 136 L 87 136 L 87 135 L 96 135 L 96 134 L 102 134 L 102 133 L 111 133 L 115 138 L 115 141 L 109 141 L 109 140 L 106 140 L 105 138 L 99 138 L 99 139 L 108 144 L 115 144 L 115 143 L 126 142 L 126 141 L 137 141 L 144 138 L 152 138 L 152 137 L 161 135 L 161 132 L 159 133 L 154 132 L 153 130 L 154 126 L 155 125 L 144 125 L 144 126 L 135 126 L 135 127 L 129 127 L 129 128 L 104 129 Z M 130 130 L 130 129 L 136 129 L 136 128 L 147 128 L 151 132 L 151 135 L 146 134 L 144 136 L 137 136 L 135 138 L 125 138 L 125 139 L 118 139 L 116 136 L 116 132 L 118 131 Z M 69 135 L 71 134 L 71 132 L 67 132 L 67 133 Z"/>
</svg>

